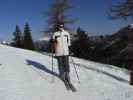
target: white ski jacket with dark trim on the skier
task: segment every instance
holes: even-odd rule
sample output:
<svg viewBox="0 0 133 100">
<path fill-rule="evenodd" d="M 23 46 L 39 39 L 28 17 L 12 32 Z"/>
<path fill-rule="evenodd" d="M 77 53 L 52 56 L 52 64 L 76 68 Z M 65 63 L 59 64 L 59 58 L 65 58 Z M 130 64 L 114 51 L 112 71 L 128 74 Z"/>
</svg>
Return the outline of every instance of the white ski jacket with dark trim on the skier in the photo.
<svg viewBox="0 0 133 100">
<path fill-rule="evenodd" d="M 71 45 L 70 34 L 62 29 L 61 31 L 55 32 L 52 38 L 53 40 L 57 40 L 55 56 L 69 55 L 69 46 Z"/>
</svg>

